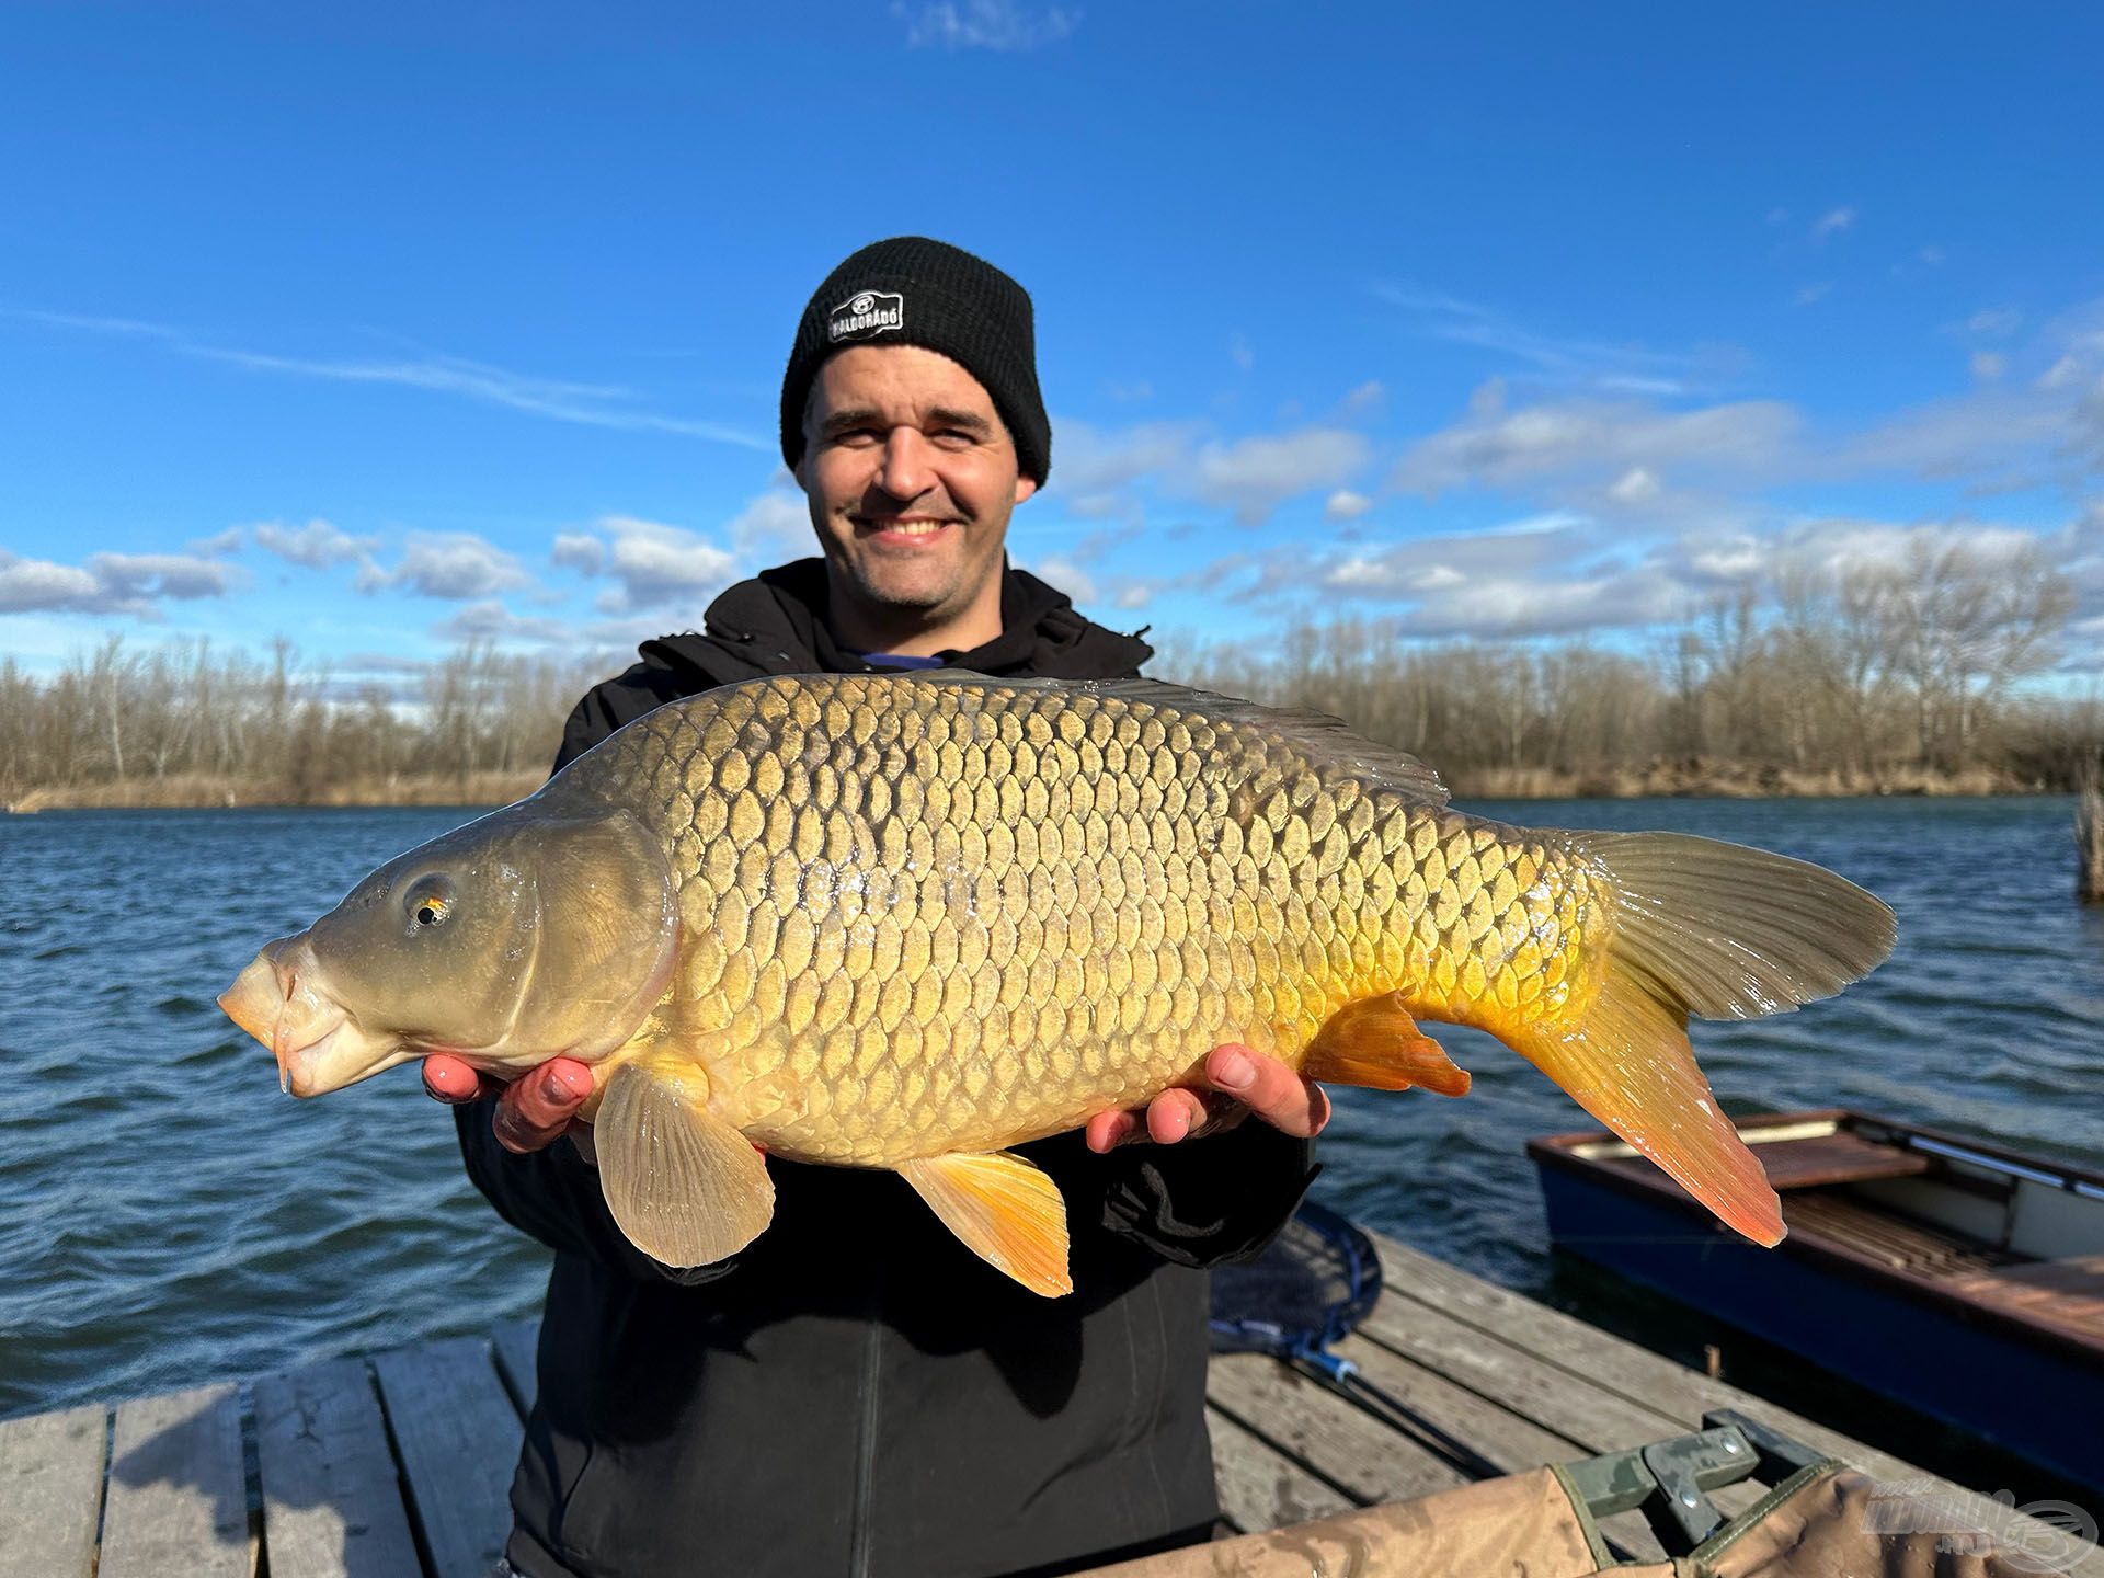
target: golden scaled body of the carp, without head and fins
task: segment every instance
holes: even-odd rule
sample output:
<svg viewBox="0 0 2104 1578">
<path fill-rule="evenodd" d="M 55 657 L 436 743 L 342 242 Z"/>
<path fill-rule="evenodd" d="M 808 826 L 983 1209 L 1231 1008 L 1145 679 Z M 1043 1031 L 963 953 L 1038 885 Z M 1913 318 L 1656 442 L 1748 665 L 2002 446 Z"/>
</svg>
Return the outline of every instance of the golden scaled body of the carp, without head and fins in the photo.
<svg viewBox="0 0 2104 1578">
<path fill-rule="evenodd" d="M 690 1048 L 781 1155 L 1014 1145 L 1216 1041 L 1298 1063 L 1389 991 L 1519 1029 L 1563 1006 L 1589 940 L 1576 856 L 1258 722 L 875 675 L 709 701 L 701 728 L 661 709 L 572 772 L 656 810 L 701 940 L 644 1044 Z M 1559 980 L 1525 997 L 1519 947 Z"/>
</svg>

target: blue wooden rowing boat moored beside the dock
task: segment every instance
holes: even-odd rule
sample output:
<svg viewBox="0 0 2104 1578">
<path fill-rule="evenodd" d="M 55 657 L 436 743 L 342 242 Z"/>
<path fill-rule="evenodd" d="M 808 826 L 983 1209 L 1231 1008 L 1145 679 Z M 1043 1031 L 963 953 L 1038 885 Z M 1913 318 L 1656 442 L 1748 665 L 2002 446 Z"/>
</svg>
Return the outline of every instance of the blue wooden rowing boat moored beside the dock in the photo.
<svg viewBox="0 0 2104 1578">
<path fill-rule="evenodd" d="M 1555 1248 L 2104 1492 L 2104 1174 L 1847 1109 L 1736 1124 L 1776 1250 L 1603 1130 L 1528 1142 Z"/>
</svg>

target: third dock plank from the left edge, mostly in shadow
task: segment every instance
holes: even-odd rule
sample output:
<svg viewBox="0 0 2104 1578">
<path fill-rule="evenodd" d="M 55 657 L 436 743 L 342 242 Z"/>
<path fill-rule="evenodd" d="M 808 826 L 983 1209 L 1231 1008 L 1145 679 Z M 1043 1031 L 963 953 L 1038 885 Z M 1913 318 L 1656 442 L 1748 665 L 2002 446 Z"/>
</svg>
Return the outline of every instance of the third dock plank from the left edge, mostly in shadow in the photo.
<svg viewBox="0 0 2104 1578">
<path fill-rule="evenodd" d="M 267 1376 L 255 1403 L 271 1578 L 423 1572 L 364 1359 Z"/>
</svg>

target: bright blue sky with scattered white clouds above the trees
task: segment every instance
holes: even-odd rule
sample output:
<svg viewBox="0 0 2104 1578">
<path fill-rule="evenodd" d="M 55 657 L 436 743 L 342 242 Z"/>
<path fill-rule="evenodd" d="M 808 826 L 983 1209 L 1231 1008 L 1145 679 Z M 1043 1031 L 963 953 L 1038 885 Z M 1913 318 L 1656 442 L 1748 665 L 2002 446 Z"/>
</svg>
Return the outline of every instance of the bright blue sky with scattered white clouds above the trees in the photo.
<svg viewBox="0 0 2104 1578">
<path fill-rule="evenodd" d="M 1037 301 L 1012 553 L 1098 619 L 1641 646 L 2035 545 L 2104 663 L 2104 13 L 0 8 L 0 652 L 696 625 L 808 551 L 795 313 Z"/>
</svg>

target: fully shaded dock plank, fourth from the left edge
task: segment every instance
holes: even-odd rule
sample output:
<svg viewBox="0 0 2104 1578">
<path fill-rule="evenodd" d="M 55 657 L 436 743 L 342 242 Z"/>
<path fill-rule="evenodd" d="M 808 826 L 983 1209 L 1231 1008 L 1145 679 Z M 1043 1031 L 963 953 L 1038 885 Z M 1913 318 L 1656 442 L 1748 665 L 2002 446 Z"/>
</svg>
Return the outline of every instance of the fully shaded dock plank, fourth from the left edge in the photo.
<svg viewBox="0 0 2104 1578">
<path fill-rule="evenodd" d="M 431 1578 L 482 1578 L 511 1536 L 511 1469 L 524 1435 L 488 1340 L 393 1349 L 372 1368 Z"/>
</svg>

